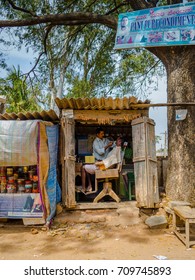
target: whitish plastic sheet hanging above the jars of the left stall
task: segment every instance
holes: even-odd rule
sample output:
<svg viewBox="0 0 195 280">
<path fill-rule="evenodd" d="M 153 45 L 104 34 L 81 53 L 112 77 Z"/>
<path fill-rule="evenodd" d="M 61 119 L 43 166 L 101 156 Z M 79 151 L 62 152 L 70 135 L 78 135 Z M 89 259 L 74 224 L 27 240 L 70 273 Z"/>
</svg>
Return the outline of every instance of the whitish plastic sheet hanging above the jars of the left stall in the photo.
<svg viewBox="0 0 195 280">
<path fill-rule="evenodd" d="M 37 164 L 38 122 L 0 121 L 0 166 Z"/>
</svg>

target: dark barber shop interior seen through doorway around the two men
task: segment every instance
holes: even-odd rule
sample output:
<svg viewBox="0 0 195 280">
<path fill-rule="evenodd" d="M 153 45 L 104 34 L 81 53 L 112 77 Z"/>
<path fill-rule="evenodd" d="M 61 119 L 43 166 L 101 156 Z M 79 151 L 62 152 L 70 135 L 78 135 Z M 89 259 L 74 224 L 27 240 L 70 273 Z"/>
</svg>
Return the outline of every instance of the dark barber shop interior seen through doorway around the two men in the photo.
<svg viewBox="0 0 195 280">
<path fill-rule="evenodd" d="M 97 124 L 75 123 L 75 198 L 77 203 L 93 202 L 95 197 L 103 189 L 103 180 L 98 182 L 98 190 L 95 189 L 95 175 L 90 175 L 92 181 L 92 193 L 81 191 L 82 185 L 82 167 L 89 164 L 93 159 L 92 145 L 96 137 Z M 122 169 L 117 179 L 111 180 L 112 189 L 121 201 L 135 200 L 135 182 L 134 182 L 134 165 L 133 165 L 133 145 L 132 145 L 132 127 L 130 123 L 120 123 L 114 125 L 101 125 L 105 132 L 105 137 L 116 140 L 121 136 L 123 141 L 127 142 L 124 149 Z M 93 161 L 91 162 L 93 164 Z M 86 182 L 87 184 L 87 182 Z M 109 195 L 104 196 L 99 202 L 113 202 Z"/>
</svg>

